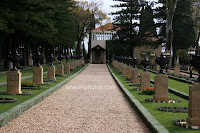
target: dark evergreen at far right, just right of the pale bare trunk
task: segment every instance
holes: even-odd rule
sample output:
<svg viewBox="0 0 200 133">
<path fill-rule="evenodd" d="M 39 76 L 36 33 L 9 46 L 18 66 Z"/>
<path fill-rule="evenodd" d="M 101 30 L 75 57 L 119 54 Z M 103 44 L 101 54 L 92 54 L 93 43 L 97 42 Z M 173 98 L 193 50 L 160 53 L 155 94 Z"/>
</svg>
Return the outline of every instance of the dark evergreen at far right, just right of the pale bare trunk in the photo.
<svg viewBox="0 0 200 133">
<path fill-rule="evenodd" d="M 195 44 L 194 21 L 192 19 L 192 1 L 180 0 L 174 14 L 173 51 L 187 49 Z"/>
</svg>

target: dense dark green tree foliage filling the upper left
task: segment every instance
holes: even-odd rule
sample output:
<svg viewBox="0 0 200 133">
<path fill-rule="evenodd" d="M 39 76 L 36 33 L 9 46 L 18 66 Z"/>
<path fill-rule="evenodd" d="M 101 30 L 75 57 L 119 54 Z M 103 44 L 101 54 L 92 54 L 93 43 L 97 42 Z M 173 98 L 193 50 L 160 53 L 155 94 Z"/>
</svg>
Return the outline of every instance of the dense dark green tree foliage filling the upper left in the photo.
<svg viewBox="0 0 200 133">
<path fill-rule="evenodd" d="M 4 55 L 21 44 L 25 51 L 38 45 L 74 44 L 72 3 L 71 0 L 1 1 L 0 43 L 5 47 Z"/>
</svg>

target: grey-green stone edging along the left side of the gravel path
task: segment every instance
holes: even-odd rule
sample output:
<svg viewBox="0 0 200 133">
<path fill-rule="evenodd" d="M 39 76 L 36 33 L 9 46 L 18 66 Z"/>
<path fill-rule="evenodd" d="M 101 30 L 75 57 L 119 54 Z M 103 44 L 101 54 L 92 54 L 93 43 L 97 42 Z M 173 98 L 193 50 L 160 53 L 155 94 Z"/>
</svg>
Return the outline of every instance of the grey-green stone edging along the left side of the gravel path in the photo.
<svg viewBox="0 0 200 133">
<path fill-rule="evenodd" d="M 72 80 L 74 77 L 76 77 L 79 73 L 81 73 L 88 65 L 85 65 L 81 70 L 73 74 L 72 76 L 68 77 L 64 81 L 56 84 L 55 86 L 52 86 L 51 88 L 47 89 L 46 91 L 38 94 L 37 96 L 9 109 L 7 112 L 0 114 L 0 127 L 5 126 L 8 122 L 15 119 L 19 115 L 21 115 L 23 112 L 34 106 L 35 104 L 41 102 L 46 97 L 50 96 L 52 93 L 54 93 L 56 90 L 60 89 L 63 85 L 65 85 L 67 82 Z"/>
</svg>

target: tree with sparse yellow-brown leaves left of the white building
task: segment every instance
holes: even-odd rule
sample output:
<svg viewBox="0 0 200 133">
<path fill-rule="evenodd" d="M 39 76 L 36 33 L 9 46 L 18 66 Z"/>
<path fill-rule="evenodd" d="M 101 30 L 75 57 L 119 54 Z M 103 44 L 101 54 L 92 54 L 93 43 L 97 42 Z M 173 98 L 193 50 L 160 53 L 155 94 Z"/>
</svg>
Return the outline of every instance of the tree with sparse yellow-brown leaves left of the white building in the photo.
<svg viewBox="0 0 200 133">
<path fill-rule="evenodd" d="M 76 16 L 74 23 L 76 24 L 77 55 L 81 54 L 81 42 L 91 30 L 91 25 L 94 23 L 100 24 L 102 20 L 107 18 L 106 14 L 101 10 L 101 5 L 101 3 L 96 3 L 95 1 L 91 3 L 83 1 L 76 2 L 73 15 Z"/>
</svg>

